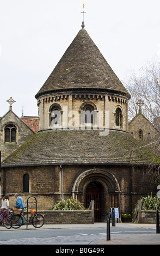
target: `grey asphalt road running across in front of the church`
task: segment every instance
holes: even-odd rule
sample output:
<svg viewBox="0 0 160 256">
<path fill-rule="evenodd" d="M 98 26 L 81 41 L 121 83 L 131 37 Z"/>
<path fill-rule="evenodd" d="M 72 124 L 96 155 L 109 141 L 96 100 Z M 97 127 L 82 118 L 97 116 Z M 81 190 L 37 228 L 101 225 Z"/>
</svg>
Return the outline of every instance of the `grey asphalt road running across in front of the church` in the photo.
<svg viewBox="0 0 160 256">
<path fill-rule="evenodd" d="M 110 227 L 114 234 L 155 234 L 156 227 Z M 104 240 L 106 225 L 96 228 L 1 229 L 0 245 L 90 245 Z"/>
</svg>

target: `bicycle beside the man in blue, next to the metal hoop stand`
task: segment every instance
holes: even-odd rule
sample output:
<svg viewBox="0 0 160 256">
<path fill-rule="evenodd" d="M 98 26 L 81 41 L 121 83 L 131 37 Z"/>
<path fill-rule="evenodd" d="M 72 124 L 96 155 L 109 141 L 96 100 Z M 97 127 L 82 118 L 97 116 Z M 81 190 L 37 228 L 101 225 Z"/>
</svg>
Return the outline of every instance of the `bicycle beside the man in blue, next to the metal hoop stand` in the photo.
<svg viewBox="0 0 160 256">
<path fill-rule="evenodd" d="M 41 228 L 45 223 L 45 218 L 41 214 L 36 214 L 36 210 L 30 210 L 31 216 L 29 221 L 22 216 L 22 209 L 12 209 L 13 212 L 9 215 L 13 228 L 20 228 L 23 222 L 23 218 L 27 224 L 32 224 L 35 228 Z M 19 212 L 17 210 L 20 210 Z"/>
</svg>

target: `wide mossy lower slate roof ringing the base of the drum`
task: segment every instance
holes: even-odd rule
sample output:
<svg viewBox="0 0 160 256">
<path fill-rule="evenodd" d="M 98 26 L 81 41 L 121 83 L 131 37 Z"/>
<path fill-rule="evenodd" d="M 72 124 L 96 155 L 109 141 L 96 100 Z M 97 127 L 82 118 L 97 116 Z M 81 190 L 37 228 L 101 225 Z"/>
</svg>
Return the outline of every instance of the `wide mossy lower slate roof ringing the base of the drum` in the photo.
<svg viewBox="0 0 160 256">
<path fill-rule="evenodd" d="M 139 148 L 128 133 L 99 130 L 52 130 L 36 133 L 3 160 L 2 167 L 48 164 L 149 164 L 160 159 L 146 148 Z"/>
</svg>

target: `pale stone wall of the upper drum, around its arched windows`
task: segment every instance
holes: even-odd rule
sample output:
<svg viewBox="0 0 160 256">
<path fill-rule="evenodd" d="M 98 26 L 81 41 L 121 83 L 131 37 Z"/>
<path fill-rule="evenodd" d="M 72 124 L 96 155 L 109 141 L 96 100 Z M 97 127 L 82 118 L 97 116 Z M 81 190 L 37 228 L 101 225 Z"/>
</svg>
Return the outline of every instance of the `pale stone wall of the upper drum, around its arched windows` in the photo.
<svg viewBox="0 0 160 256">
<path fill-rule="evenodd" d="M 52 106 L 60 106 L 61 124 L 57 127 L 59 129 L 66 127 L 80 127 L 82 128 L 81 110 L 84 105 L 93 105 L 96 112 L 96 126 L 109 127 L 116 130 L 128 130 L 128 112 L 127 100 L 120 96 L 108 96 L 94 93 L 77 93 L 65 95 L 51 95 L 50 97 L 41 97 L 38 100 L 40 115 L 40 130 L 53 129 L 50 124 L 50 109 Z M 122 110 L 122 126 L 115 125 L 115 109 Z M 55 127 L 54 127 L 55 128 Z"/>
</svg>

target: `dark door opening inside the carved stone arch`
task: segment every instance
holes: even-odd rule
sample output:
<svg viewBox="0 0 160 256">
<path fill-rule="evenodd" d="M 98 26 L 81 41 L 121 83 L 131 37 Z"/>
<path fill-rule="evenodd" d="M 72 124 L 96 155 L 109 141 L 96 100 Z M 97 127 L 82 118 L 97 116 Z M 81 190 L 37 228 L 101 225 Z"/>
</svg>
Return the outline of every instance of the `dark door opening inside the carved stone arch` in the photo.
<svg viewBox="0 0 160 256">
<path fill-rule="evenodd" d="M 95 206 L 95 222 L 102 221 L 104 209 L 103 186 L 100 182 L 90 182 L 85 190 L 85 207 L 88 208 L 91 200 L 94 200 Z"/>
</svg>

